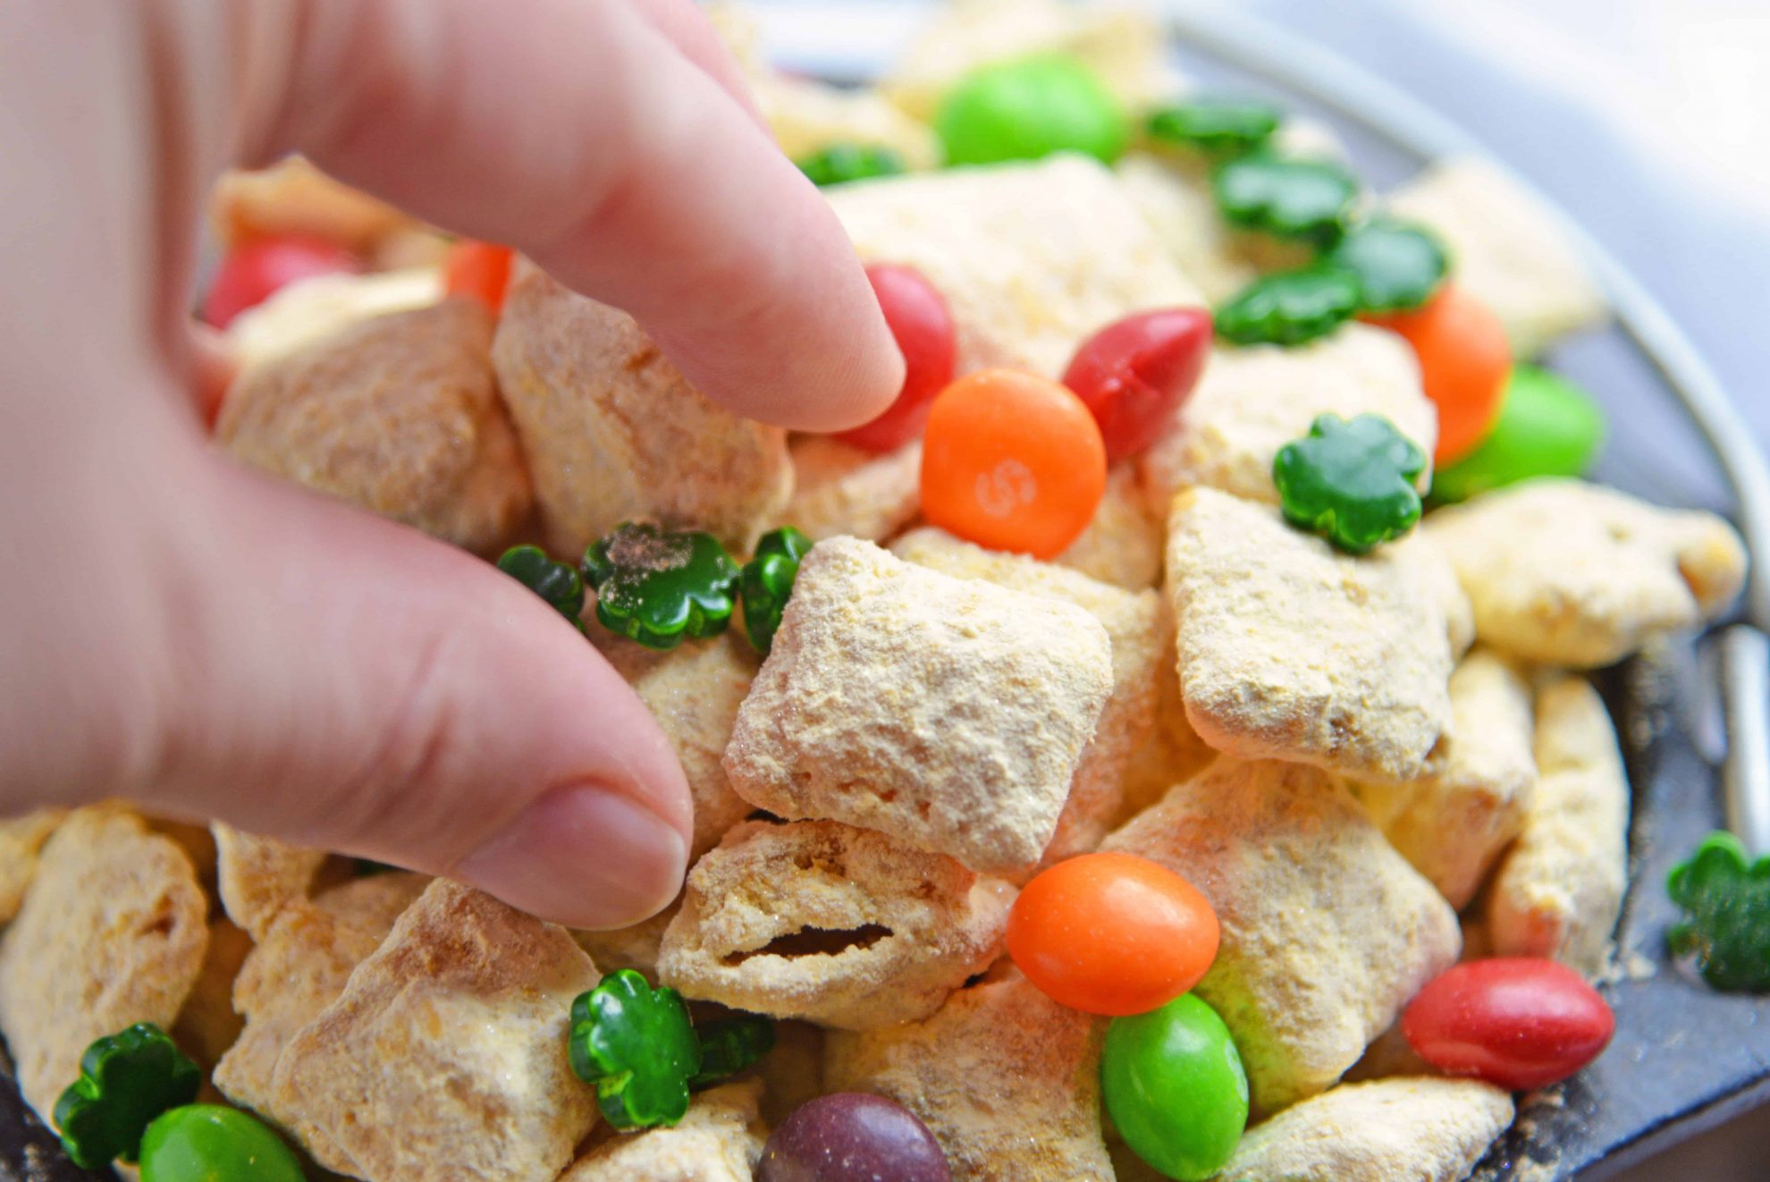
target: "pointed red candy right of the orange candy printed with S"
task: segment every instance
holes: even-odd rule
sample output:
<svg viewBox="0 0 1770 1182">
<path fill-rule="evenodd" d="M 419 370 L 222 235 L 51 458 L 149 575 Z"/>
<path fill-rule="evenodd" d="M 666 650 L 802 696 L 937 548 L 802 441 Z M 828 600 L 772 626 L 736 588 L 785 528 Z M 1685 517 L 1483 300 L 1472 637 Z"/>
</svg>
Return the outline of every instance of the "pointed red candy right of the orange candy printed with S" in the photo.
<svg viewBox="0 0 1770 1182">
<path fill-rule="evenodd" d="M 1115 320 L 1090 336 L 1064 372 L 1064 386 L 1094 412 L 1106 458 L 1136 455 L 1174 418 L 1211 356 L 1211 313 L 1163 308 Z"/>
</svg>

